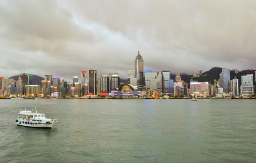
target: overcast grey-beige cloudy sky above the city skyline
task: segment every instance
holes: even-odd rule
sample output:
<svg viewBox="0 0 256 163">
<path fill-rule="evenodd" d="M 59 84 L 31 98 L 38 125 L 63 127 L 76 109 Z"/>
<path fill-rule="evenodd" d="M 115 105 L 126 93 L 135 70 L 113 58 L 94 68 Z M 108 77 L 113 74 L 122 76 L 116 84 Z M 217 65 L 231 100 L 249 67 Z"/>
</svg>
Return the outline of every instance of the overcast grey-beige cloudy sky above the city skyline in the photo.
<svg viewBox="0 0 256 163">
<path fill-rule="evenodd" d="M 1 0 L 0 76 L 256 69 L 256 0 Z"/>
</svg>

